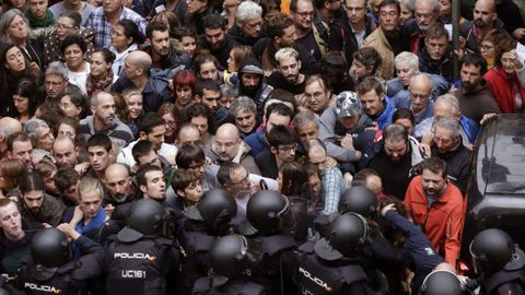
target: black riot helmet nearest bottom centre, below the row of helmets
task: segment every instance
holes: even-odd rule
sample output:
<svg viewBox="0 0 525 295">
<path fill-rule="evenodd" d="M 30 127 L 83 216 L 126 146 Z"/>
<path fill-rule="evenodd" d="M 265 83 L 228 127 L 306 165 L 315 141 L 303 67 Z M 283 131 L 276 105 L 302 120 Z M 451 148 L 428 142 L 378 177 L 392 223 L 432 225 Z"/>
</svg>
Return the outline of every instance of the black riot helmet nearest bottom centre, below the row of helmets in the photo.
<svg viewBox="0 0 525 295">
<path fill-rule="evenodd" d="M 210 263 L 213 274 L 225 278 L 241 275 L 242 260 L 248 250 L 248 241 L 241 235 L 219 238 L 210 249 Z"/>
</svg>

